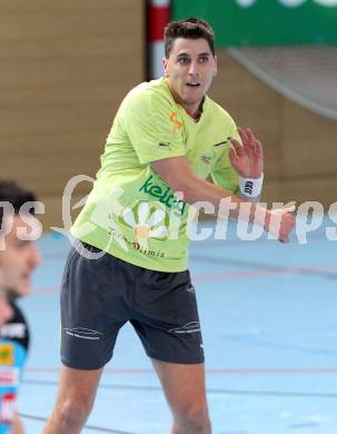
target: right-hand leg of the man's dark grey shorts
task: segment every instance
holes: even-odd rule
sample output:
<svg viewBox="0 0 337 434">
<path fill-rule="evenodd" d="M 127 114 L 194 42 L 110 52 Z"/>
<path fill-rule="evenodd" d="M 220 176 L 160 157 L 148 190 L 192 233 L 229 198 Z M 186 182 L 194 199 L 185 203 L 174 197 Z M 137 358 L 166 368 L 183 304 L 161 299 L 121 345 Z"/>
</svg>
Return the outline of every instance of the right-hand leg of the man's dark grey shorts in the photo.
<svg viewBox="0 0 337 434">
<path fill-rule="evenodd" d="M 131 320 L 150 358 L 204 363 L 201 327 L 189 272 L 139 276 Z"/>
</svg>

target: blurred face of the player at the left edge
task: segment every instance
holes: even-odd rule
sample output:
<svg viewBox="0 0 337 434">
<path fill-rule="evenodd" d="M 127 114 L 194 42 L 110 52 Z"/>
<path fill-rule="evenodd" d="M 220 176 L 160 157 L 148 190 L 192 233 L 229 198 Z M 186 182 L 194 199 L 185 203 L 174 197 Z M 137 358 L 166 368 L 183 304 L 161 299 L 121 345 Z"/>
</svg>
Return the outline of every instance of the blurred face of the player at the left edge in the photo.
<svg viewBox="0 0 337 434">
<path fill-rule="evenodd" d="M 18 228 L 30 234 L 33 221 L 32 217 L 26 216 L 23 220 L 19 215 L 14 215 L 11 230 L 4 236 L 6 249 L 0 250 L 0 287 L 18 296 L 29 292 L 32 272 L 41 262 L 36 244 L 19 239 L 17 234 Z"/>
</svg>

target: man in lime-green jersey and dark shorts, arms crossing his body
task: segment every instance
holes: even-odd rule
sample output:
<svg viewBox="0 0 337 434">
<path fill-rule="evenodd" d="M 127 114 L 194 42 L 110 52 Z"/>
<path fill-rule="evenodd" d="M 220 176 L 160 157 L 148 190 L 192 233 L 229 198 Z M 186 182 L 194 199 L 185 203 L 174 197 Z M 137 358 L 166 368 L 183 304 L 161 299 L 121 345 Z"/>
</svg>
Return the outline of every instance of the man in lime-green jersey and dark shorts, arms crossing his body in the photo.
<svg viewBox="0 0 337 434">
<path fill-rule="evenodd" d="M 165 77 L 139 85 L 122 101 L 93 189 L 71 229 L 77 243 L 61 290 L 63 366 L 46 434 L 80 432 L 126 322 L 161 381 L 172 432 L 210 433 L 188 272 L 191 204 L 209 203 L 218 214 L 230 199 L 230 217 L 238 218 L 240 205 L 251 201 L 247 218 L 280 241 L 294 227 L 288 210 L 255 204 L 261 144 L 206 95 L 217 71 L 211 28 L 188 19 L 171 22 L 165 37 Z"/>
</svg>

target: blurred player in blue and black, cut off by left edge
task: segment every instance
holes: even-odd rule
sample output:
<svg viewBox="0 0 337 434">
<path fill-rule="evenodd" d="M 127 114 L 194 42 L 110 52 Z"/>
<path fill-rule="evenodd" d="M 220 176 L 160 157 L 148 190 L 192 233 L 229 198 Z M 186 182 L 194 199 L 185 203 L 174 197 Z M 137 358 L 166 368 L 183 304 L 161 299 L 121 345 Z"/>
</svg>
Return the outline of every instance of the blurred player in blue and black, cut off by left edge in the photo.
<svg viewBox="0 0 337 434">
<path fill-rule="evenodd" d="M 20 239 L 36 227 L 36 197 L 13 181 L 0 181 L 0 433 L 22 434 L 16 401 L 29 347 L 29 329 L 16 299 L 29 293 L 33 269 L 41 260 L 32 240 Z M 10 204 L 10 205 L 8 205 Z"/>
</svg>

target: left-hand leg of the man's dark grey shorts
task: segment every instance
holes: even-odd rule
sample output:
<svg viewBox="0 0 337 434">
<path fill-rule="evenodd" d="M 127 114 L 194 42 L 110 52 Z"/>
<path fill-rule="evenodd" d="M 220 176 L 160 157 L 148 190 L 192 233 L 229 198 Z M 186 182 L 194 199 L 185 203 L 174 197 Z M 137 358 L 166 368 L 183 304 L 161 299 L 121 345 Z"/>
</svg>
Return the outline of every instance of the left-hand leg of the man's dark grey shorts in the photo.
<svg viewBox="0 0 337 434">
<path fill-rule="evenodd" d="M 70 253 L 62 278 L 61 359 L 75 369 L 99 369 L 112 357 L 118 332 L 128 320 L 127 283 L 111 255 L 90 259 L 81 255 L 81 246 Z"/>
</svg>

